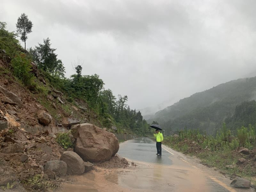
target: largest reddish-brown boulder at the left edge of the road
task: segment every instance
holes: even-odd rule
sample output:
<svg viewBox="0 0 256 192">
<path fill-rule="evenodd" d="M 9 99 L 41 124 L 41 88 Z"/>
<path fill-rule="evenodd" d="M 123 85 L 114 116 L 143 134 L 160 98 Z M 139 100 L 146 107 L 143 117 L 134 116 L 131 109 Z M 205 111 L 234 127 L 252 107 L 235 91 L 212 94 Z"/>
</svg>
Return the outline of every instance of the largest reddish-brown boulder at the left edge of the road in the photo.
<svg viewBox="0 0 256 192">
<path fill-rule="evenodd" d="M 72 128 L 72 134 L 76 138 L 75 152 L 84 161 L 110 160 L 119 149 L 119 143 L 114 134 L 89 123 L 75 125 Z"/>
</svg>

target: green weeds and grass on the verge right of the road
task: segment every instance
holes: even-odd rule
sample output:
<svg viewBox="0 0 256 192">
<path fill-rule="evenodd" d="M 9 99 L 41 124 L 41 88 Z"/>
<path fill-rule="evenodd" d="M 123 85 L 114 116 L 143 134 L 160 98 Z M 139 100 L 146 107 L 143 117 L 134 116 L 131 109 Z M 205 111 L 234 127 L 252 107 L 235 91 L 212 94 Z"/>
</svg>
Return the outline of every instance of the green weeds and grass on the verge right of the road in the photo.
<svg viewBox="0 0 256 192">
<path fill-rule="evenodd" d="M 236 166 L 239 158 L 250 158 L 237 152 L 239 147 L 253 149 L 256 147 L 256 128 L 249 125 L 248 128 L 241 127 L 237 134 L 223 124 L 223 127 L 215 137 L 206 133 L 201 134 L 199 130 L 179 131 L 177 135 L 165 137 L 164 144 L 169 145 L 177 151 L 185 154 L 195 155 L 202 160 L 202 163 L 216 167 L 226 174 L 236 174 L 241 177 L 256 176 L 251 161 L 244 166 Z M 233 165 L 231 168 L 226 166 Z"/>
</svg>

